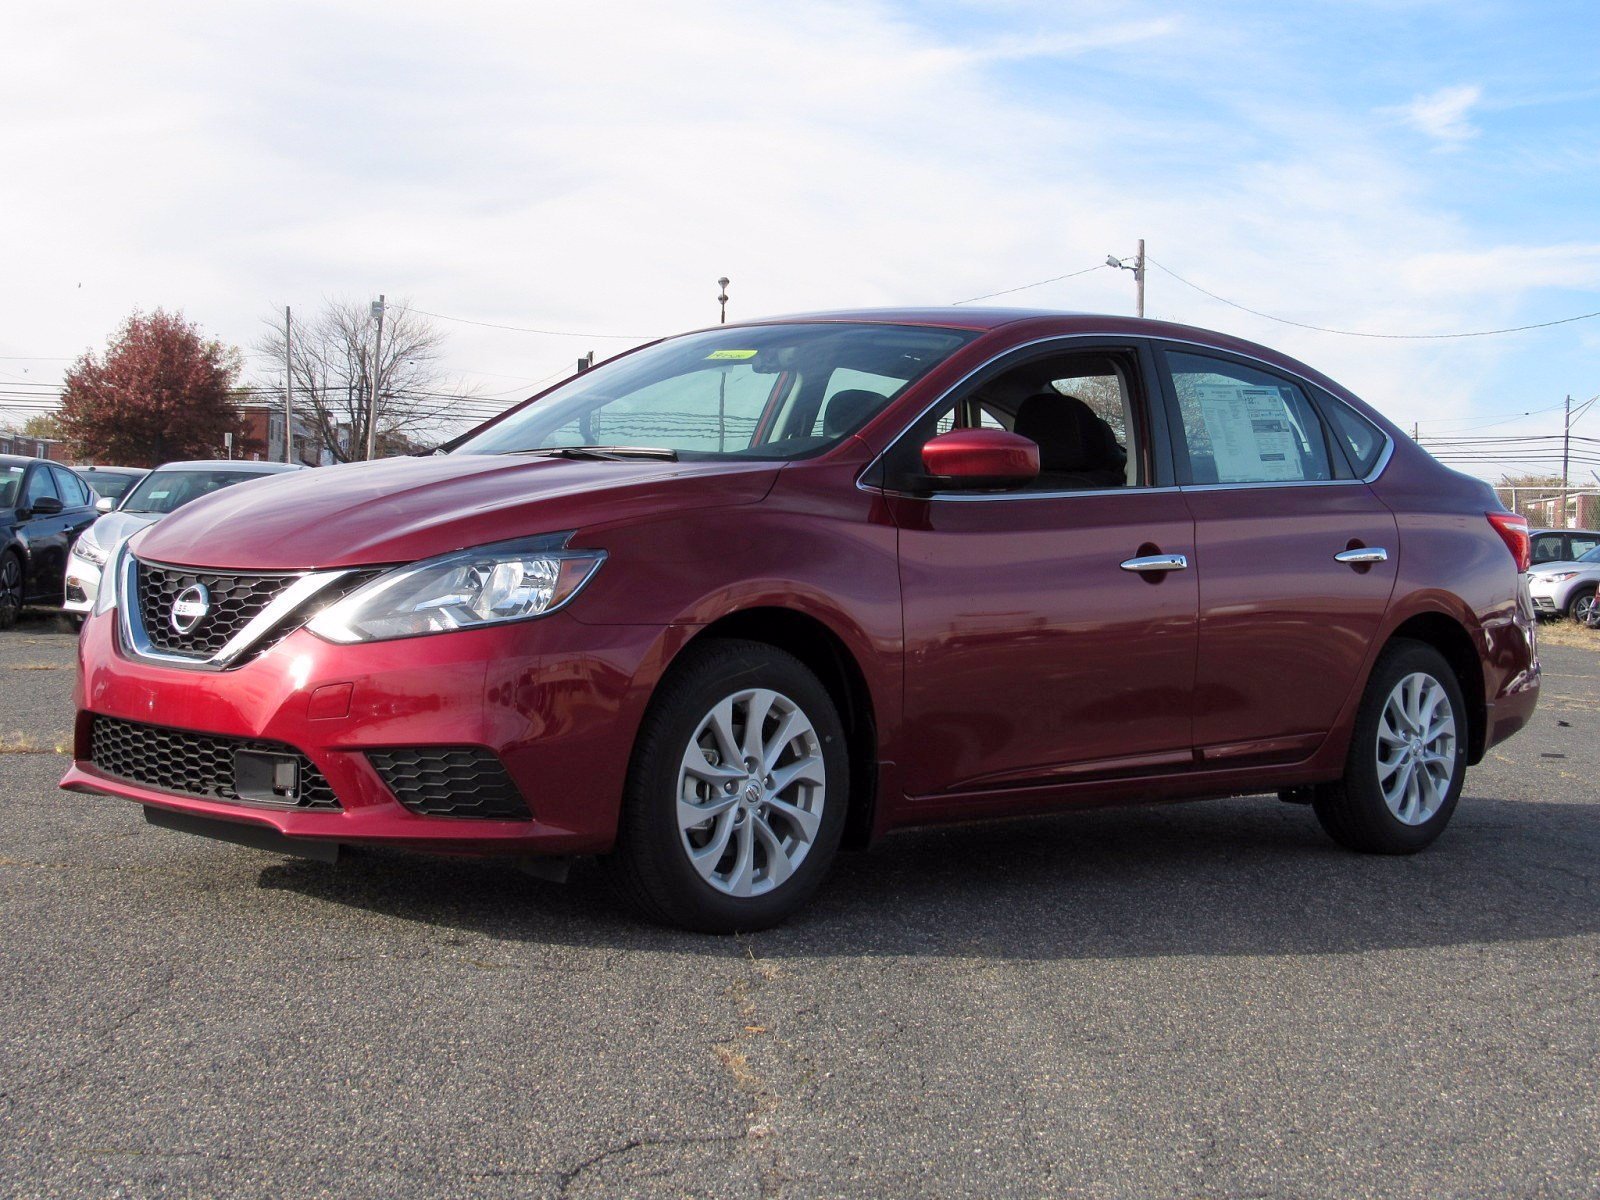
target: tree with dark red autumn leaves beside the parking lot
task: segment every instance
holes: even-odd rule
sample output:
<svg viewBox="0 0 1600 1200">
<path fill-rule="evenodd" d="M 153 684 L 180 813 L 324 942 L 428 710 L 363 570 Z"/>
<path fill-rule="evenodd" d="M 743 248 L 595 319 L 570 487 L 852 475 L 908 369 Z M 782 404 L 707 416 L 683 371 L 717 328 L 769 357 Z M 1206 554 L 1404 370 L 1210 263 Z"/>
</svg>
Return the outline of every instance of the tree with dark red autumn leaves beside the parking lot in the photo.
<svg viewBox="0 0 1600 1200">
<path fill-rule="evenodd" d="M 203 338 L 182 314 L 134 312 L 104 358 L 88 350 L 67 371 L 61 432 L 96 462 L 221 458 L 222 435 L 242 429 L 234 405 L 242 365 L 238 350 Z"/>
</svg>

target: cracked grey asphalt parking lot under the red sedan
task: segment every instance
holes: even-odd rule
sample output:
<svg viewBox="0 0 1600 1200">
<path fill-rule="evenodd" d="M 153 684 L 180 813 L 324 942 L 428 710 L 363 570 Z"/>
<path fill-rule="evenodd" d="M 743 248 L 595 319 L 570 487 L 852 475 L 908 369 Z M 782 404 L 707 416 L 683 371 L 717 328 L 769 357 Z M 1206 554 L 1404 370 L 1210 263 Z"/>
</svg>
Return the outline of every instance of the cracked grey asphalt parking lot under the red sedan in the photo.
<svg viewBox="0 0 1600 1200">
<path fill-rule="evenodd" d="M 904 834 L 792 925 L 56 790 L 0 635 L 0 1194 L 1600 1194 L 1600 651 L 1413 859 L 1269 798 Z"/>
</svg>

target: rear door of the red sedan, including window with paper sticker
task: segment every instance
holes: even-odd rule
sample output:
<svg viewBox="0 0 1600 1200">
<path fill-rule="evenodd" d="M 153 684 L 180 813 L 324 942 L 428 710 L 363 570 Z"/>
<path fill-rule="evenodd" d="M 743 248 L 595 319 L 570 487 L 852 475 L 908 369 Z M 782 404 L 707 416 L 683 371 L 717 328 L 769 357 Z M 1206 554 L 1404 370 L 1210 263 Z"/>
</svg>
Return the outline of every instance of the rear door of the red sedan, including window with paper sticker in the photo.
<svg viewBox="0 0 1600 1200">
<path fill-rule="evenodd" d="M 1189 346 L 1160 358 L 1195 520 L 1197 752 L 1216 766 L 1304 758 L 1360 682 L 1394 592 L 1394 514 L 1307 382 Z"/>
</svg>

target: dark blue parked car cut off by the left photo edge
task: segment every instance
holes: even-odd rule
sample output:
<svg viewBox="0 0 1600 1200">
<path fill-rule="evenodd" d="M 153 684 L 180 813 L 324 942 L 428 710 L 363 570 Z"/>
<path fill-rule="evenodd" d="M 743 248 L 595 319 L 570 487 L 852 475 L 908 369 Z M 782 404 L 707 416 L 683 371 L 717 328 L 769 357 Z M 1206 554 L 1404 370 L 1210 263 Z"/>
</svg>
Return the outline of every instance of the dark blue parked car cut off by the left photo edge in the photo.
<svg viewBox="0 0 1600 1200">
<path fill-rule="evenodd" d="M 61 603 L 67 550 L 94 517 L 94 493 L 67 467 L 0 454 L 0 629 L 22 605 Z"/>
</svg>

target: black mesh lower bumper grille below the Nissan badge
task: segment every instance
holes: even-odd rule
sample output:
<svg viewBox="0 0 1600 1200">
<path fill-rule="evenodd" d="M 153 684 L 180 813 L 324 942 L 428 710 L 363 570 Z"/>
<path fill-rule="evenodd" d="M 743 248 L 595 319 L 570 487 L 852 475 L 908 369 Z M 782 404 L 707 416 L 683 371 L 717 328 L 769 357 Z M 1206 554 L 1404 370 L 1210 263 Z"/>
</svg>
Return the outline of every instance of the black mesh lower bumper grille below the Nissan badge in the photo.
<svg viewBox="0 0 1600 1200">
<path fill-rule="evenodd" d="M 326 776 L 293 746 L 168 730 L 99 715 L 90 725 L 90 762 L 109 776 L 205 800 L 254 803 L 240 800 L 234 789 L 235 750 L 282 754 L 298 760 L 296 798 L 293 803 L 285 800 L 283 808 L 339 808 Z"/>
</svg>

